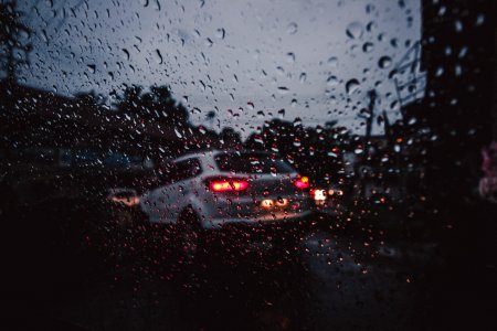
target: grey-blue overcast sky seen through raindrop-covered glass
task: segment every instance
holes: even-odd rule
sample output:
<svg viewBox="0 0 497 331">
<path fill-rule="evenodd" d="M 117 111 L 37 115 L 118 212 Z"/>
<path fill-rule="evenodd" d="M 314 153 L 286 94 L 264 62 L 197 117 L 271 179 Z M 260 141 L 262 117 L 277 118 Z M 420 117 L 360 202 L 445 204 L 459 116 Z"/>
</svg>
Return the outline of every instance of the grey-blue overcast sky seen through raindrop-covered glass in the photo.
<svg viewBox="0 0 497 331">
<path fill-rule="evenodd" d="M 300 117 L 363 131 L 367 92 L 399 117 L 390 71 L 421 38 L 420 0 L 25 0 L 24 83 L 64 95 L 169 85 L 195 124 L 251 132 Z M 347 82 L 357 79 L 358 84 Z M 353 81 L 352 81 L 353 83 Z M 392 107 L 393 106 L 393 107 Z M 215 110 L 213 122 L 205 115 Z M 219 121 L 218 121 L 219 120 Z M 380 132 L 379 127 L 376 128 Z"/>
</svg>

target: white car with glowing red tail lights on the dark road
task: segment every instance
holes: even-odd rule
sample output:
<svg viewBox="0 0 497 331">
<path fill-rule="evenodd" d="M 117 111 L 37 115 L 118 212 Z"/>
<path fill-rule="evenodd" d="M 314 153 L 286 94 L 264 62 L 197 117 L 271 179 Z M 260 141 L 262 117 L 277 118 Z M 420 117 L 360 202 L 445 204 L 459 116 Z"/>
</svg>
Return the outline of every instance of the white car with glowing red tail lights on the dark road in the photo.
<svg viewBox="0 0 497 331">
<path fill-rule="evenodd" d="M 162 186 L 141 195 L 141 210 L 152 224 L 178 225 L 192 245 L 209 231 L 282 226 L 311 213 L 308 179 L 269 153 L 190 153 L 158 172 Z"/>
</svg>

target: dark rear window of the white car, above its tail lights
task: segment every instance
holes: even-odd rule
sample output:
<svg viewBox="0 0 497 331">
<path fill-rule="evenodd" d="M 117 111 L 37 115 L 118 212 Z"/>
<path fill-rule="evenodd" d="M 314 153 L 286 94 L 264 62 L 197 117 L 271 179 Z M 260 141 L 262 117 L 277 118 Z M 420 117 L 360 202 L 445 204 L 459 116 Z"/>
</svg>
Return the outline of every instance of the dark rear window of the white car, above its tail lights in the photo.
<svg viewBox="0 0 497 331">
<path fill-rule="evenodd" d="M 282 159 L 258 153 L 228 153 L 215 157 L 221 171 L 234 173 L 290 173 L 295 170 Z"/>
</svg>

